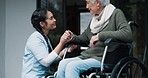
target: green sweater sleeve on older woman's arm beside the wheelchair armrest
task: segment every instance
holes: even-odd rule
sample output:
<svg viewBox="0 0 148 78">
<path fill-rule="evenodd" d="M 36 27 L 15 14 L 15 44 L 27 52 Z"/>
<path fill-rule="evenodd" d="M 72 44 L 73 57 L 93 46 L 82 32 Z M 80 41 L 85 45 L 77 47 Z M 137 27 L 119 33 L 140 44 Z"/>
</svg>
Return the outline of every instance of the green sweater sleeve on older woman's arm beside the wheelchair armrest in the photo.
<svg viewBox="0 0 148 78">
<path fill-rule="evenodd" d="M 114 38 L 124 42 L 132 41 L 132 31 L 130 26 L 127 23 L 127 20 L 123 12 L 117 9 L 111 17 L 111 25 L 108 25 L 113 28 L 109 28 L 106 31 L 99 32 L 99 40 L 106 40 L 107 38 Z M 112 26 L 114 25 L 114 26 Z"/>
</svg>

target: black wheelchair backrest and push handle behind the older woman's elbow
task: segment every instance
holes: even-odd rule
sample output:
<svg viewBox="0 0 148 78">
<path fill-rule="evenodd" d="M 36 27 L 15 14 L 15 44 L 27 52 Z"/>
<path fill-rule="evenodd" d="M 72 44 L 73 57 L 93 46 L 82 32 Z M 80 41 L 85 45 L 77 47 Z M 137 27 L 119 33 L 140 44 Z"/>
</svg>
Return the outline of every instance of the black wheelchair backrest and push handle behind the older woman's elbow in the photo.
<svg viewBox="0 0 148 78">
<path fill-rule="evenodd" d="M 134 21 L 128 22 L 131 27 L 132 32 L 134 32 L 135 28 L 138 28 L 139 25 Z M 135 42 L 128 43 L 127 45 L 120 45 L 118 48 L 112 52 L 107 52 L 105 58 L 105 64 L 113 64 L 115 65 L 119 60 L 126 56 L 133 56 L 133 47 L 135 46 Z"/>
</svg>

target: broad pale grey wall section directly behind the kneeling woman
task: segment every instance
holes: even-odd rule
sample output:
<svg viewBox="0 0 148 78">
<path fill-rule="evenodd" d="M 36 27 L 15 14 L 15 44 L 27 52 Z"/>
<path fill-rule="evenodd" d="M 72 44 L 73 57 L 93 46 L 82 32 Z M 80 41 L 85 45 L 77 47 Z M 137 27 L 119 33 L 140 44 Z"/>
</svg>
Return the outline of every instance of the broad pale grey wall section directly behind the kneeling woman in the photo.
<svg viewBox="0 0 148 78">
<path fill-rule="evenodd" d="M 35 9 L 36 0 L 6 0 L 5 78 L 21 78 L 22 56 L 34 30 L 30 18 Z"/>
</svg>

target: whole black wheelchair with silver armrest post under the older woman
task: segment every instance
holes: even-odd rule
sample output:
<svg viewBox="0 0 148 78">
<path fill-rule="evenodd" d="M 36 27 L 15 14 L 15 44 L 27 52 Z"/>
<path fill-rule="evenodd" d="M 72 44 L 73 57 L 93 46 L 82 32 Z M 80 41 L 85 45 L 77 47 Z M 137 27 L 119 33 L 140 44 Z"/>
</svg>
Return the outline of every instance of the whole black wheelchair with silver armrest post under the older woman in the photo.
<svg viewBox="0 0 148 78">
<path fill-rule="evenodd" d="M 138 25 L 134 21 L 128 23 L 133 30 Z M 101 68 L 90 68 L 81 73 L 81 78 L 148 78 L 148 71 L 144 64 L 133 57 L 133 43 L 121 44 L 120 51 L 107 52 L 109 45 L 113 43 L 112 38 L 105 41 L 104 54 L 101 61 Z"/>
</svg>

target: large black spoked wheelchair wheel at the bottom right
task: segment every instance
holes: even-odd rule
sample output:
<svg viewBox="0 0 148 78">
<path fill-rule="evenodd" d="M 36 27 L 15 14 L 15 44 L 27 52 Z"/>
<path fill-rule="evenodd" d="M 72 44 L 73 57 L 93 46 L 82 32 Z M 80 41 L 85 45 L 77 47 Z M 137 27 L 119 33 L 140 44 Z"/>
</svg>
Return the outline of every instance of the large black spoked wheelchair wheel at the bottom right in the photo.
<svg viewBox="0 0 148 78">
<path fill-rule="evenodd" d="M 114 67 L 111 78 L 148 78 L 146 67 L 134 57 L 125 57 Z"/>
</svg>

